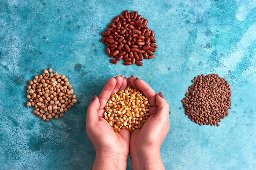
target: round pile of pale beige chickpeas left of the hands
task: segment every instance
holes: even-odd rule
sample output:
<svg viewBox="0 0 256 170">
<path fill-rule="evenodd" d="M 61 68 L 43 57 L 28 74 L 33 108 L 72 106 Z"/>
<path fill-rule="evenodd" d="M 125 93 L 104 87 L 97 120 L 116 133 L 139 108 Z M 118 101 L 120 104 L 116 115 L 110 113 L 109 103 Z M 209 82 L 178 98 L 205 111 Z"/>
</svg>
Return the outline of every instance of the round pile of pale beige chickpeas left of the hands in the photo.
<svg viewBox="0 0 256 170">
<path fill-rule="evenodd" d="M 34 114 L 49 121 L 53 117 L 63 117 L 64 112 L 77 102 L 72 85 L 65 75 L 51 73 L 52 69 L 44 70 L 42 75 L 36 75 L 27 86 L 27 106 L 34 106 Z"/>
</svg>

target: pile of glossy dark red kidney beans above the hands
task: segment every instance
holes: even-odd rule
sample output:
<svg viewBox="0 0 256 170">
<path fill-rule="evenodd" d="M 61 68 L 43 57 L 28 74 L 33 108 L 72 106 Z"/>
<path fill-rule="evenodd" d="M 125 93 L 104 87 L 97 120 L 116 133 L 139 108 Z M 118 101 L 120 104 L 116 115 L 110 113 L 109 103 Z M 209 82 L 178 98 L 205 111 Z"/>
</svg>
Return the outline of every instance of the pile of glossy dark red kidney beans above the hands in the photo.
<svg viewBox="0 0 256 170">
<path fill-rule="evenodd" d="M 155 57 L 155 32 L 148 29 L 147 23 L 148 20 L 138 15 L 137 11 L 130 13 L 128 10 L 113 20 L 106 32 L 102 33 L 108 55 L 115 58 L 111 59 L 112 63 L 117 64 L 124 59 L 125 65 L 136 63 L 142 66 L 144 58 Z"/>
</svg>

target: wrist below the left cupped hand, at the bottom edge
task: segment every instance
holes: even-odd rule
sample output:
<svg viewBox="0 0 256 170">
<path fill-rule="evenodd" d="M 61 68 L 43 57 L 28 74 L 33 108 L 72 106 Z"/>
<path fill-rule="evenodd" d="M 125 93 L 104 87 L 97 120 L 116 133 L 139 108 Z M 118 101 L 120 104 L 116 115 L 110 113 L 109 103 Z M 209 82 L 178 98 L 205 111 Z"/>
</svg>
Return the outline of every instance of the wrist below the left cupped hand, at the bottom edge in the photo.
<svg viewBox="0 0 256 170">
<path fill-rule="evenodd" d="M 96 151 L 92 170 L 126 170 L 128 155 Z"/>
</svg>

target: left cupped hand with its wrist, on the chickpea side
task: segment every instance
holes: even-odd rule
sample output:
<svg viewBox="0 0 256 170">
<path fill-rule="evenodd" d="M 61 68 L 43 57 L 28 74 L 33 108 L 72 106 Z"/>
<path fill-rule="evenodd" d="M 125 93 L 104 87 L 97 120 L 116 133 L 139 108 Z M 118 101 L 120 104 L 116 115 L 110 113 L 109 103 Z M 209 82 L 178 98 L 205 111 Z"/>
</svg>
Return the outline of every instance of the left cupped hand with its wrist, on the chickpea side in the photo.
<svg viewBox="0 0 256 170">
<path fill-rule="evenodd" d="M 130 132 L 115 132 L 104 119 L 105 106 L 111 94 L 124 90 L 126 77 L 119 75 L 108 80 L 99 98 L 94 95 L 86 115 L 86 132 L 96 151 L 92 170 L 126 170 Z"/>
</svg>

